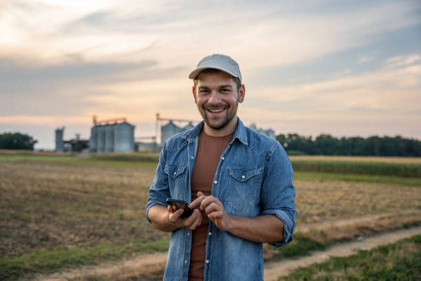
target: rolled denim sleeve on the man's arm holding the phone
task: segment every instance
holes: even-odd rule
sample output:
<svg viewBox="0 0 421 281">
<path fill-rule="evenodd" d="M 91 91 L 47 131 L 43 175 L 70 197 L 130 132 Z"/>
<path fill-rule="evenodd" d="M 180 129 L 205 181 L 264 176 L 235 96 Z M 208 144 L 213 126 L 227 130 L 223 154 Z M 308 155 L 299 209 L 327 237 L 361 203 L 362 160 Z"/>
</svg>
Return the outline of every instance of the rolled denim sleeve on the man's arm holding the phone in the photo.
<svg viewBox="0 0 421 281">
<path fill-rule="evenodd" d="M 169 191 L 168 186 L 168 176 L 164 172 L 165 167 L 165 145 L 162 147 L 162 152 L 160 154 L 160 162 L 158 163 L 158 167 L 156 168 L 155 178 L 153 178 L 153 182 L 151 187 L 149 188 L 149 198 L 147 202 L 145 216 L 147 220 L 151 222 L 148 218 L 148 212 L 151 207 L 156 205 L 166 206 L 166 198 L 171 198 L 171 194 Z"/>
</svg>

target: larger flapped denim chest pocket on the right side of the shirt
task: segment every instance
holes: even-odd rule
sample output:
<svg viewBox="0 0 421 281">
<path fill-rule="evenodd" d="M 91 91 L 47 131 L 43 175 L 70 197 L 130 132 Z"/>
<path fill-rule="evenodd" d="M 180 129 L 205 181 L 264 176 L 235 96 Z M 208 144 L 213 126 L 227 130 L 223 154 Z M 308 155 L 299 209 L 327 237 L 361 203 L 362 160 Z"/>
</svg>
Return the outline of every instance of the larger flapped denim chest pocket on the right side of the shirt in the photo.
<svg viewBox="0 0 421 281">
<path fill-rule="evenodd" d="M 233 214 L 244 216 L 245 209 L 259 205 L 262 171 L 259 167 L 228 167 L 226 206 Z"/>
</svg>

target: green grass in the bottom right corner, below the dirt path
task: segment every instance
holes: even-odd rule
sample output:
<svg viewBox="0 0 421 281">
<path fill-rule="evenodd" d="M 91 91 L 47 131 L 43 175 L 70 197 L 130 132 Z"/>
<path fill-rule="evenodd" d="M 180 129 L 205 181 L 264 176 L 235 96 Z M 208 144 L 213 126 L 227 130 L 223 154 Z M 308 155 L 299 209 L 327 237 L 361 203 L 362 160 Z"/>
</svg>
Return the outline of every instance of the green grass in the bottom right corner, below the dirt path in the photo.
<svg viewBox="0 0 421 281">
<path fill-rule="evenodd" d="M 421 236 L 297 269 L 279 280 L 419 280 Z"/>
</svg>

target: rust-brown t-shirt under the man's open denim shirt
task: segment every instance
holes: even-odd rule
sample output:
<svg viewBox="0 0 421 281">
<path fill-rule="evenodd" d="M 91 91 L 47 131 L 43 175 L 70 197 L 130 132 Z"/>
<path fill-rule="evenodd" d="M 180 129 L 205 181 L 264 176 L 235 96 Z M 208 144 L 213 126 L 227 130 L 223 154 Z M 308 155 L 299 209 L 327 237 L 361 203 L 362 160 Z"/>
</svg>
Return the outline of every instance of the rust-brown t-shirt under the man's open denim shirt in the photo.
<svg viewBox="0 0 421 281">
<path fill-rule="evenodd" d="M 208 136 L 204 130 L 199 135 L 199 145 L 193 173 L 191 174 L 191 200 L 197 198 L 197 192 L 210 195 L 213 177 L 215 176 L 219 158 L 233 139 L 234 133 L 228 136 Z M 190 268 L 188 269 L 189 281 L 204 280 L 204 260 L 206 258 L 206 237 L 208 234 L 209 219 L 202 212 L 202 224 L 192 231 Z"/>
</svg>

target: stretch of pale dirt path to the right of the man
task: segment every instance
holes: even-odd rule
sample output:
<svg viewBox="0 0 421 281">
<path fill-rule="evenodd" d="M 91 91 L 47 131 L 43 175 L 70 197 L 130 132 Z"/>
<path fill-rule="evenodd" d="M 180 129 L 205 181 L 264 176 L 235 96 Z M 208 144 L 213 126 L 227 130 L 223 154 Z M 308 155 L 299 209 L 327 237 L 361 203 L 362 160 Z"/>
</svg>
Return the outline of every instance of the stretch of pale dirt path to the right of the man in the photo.
<svg viewBox="0 0 421 281">
<path fill-rule="evenodd" d="M 380 245 L 391 244 L 398 240 L 420 235 L 421 227 L 401 229 L 389 233 L 383 233 L 355 242 L 336 244 L 325 251 L 314 251 L 311 256 L 305 256 L 294 260 L 281 260 L 279 262 L 266 262 L 264 278 L 266 281 L 274 281 L 279 277 L 288 275 L 292 270 L 299 267 L 308 267 L 310 264 L 324 262 L 330 257 L 345 257 L 356 253 L 358 250 L 368 250 Z"/>
</svg>

